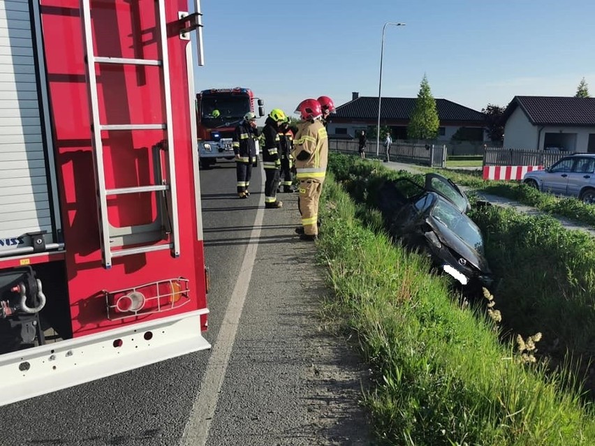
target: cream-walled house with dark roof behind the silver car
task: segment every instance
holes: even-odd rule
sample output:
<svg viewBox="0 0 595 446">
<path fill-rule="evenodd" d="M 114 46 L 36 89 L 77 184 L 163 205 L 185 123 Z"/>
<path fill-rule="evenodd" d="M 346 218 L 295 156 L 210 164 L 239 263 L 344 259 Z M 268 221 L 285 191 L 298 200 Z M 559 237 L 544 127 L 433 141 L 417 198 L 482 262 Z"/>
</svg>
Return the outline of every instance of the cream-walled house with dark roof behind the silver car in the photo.
<svg viewBox="0 0 595 446">
<path fill-rule="evenodd" d="M 515 96 L 503 117 L 504 147 L 595 153 L 595 98 Z"/>
</svg>

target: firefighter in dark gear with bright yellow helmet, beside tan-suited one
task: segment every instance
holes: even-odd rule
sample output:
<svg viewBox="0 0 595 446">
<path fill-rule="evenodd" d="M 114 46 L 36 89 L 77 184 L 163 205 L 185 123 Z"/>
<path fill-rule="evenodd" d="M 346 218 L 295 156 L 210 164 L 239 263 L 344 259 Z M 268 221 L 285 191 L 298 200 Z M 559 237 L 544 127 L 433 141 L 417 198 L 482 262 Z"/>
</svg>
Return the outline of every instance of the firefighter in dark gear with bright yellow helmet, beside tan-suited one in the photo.
<svg viewBox="0 0 595 446">
<path fill-rule="evenodd" d="M 277 188 L 279 187 L 279 173 L 281 170 L 281 138 L 279 128 L 286 119 L 283 110 L 274 108 L 269 113 L 265 126 L 263 127 L 264 149 L 263 168 L 265 169 L 265 207 L 267 209 L 278 209 L 283 202 L 277 200 Z"/>
</svg>

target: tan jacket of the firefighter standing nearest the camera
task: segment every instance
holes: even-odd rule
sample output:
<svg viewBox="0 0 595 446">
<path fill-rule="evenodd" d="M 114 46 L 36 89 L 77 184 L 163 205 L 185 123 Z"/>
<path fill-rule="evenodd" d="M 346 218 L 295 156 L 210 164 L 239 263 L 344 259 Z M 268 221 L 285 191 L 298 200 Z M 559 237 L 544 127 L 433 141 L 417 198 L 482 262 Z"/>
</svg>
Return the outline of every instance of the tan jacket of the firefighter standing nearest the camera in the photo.
<svg viewBox="0 0 595 446">
<path fill-rule="evenodd" d="M 295 177 L 324 181 L 328 162 L 328 136 L 320 119 L 300 122 L 293 140 Z"/>
</svg>

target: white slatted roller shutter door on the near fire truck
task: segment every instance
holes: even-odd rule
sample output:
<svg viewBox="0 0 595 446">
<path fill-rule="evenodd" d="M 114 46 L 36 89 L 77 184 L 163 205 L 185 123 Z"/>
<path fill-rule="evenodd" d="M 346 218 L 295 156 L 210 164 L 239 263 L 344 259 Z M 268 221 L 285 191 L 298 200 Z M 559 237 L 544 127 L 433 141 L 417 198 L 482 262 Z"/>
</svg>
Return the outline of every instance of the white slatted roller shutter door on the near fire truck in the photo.
<svg viewBox="0 0 595 446">
<path fill-rule="evenodd" d="M 38 7 L 0 0 L 0 258 L 58 243 Z"/>
</svg>

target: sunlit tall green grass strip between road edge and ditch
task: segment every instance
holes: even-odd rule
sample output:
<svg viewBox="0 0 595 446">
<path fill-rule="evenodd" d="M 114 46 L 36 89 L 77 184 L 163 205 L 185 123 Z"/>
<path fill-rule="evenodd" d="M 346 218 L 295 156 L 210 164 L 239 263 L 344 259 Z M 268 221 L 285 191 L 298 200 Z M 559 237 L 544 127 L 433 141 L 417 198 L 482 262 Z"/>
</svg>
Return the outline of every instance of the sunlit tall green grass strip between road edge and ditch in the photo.
<svg viewBox="0 0 595 446">
<path fill-rule="evenodd" d="M 366 164 L 360 173 L 376 181 L 383 169 Z M 338 174 L 355 187 L 348 170 Z M 365 404 L 379 443 L 595 444 L 594 413 L 573 386 L 561 391 L 566 376 L 520 361 L 480 306 L 461 305 L 425 258 L 392 244 L 379 214 L 332 175 L 321 214 L 319 255 L 334 290 L 327 311 L 357 335 L 372 369 Z"/>
</svg>

